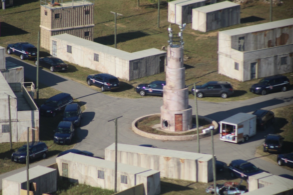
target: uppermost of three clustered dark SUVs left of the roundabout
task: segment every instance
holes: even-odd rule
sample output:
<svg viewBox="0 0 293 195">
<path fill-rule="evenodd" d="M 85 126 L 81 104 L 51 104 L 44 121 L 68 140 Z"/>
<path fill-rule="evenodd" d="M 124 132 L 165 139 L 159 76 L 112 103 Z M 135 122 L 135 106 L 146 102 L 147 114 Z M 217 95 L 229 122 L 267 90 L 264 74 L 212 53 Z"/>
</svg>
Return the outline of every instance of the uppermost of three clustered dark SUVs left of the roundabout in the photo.
<svg viewBox="0 0 293 195">
<path fill-rule="evenodd" d="M 56 116 L 57 112 L 63 110 L 65 106 L 73 102 L 70 94 L 60 93 L 47 99 L 40 106 L 40 114 L 45 116 Z"/>
</svg>

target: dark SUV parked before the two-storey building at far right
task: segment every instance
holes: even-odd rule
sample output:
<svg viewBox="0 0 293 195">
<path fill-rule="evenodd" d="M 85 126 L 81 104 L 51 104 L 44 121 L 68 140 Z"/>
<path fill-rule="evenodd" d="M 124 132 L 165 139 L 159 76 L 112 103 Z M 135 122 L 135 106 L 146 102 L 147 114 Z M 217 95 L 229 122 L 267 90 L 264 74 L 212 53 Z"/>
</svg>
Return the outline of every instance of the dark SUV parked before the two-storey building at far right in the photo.
<svg viewBox="0 0 293 195">
<path fill-rule="evenodd" d="M 251 85 L 250 91 L 255 94 L 266 95 L 275 91 L 285 92 L 290 86 L 290 81 L 286 76 L 275 75 L 265 77 L 260 82 Z"/>
</svg>

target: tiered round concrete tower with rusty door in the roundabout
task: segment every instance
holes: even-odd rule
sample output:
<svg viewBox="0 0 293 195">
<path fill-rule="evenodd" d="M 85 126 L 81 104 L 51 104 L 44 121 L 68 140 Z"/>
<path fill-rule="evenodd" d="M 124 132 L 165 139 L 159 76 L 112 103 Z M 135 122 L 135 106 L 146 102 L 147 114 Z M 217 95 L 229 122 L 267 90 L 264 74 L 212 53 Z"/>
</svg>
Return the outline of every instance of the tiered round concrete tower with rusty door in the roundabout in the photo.
<svg viewBox="0 0 293 195">
<path fill-rule="evenodd" d="M 185 86 L 183 64 L 183 26 L 181 32 L 172 34 L 169 27 L 169 45 L 166 66 L 166 86 L 163 88 L 161 128 L 168 131 L 186 131 L 192 128 L 192 107 L 188 105 L 188 88 Z"/>
</svg>

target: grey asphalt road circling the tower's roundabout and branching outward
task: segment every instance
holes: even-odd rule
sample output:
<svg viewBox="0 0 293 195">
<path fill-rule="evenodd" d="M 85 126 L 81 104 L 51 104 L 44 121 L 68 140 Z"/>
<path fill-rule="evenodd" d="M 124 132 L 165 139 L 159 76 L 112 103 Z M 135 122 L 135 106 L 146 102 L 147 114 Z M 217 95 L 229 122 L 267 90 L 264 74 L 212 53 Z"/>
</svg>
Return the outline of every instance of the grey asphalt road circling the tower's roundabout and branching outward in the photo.
<svg viewBox="0 0 293 195">
<path fill-rule="evenodd" d="M 6 57 L 6 61 L 23 66 L 25 68 L 25 77 L 35 80 L 36 67 L 25 61 L 20 61 L 15 57 L 8 56 Z M 104 149 L 115 142 L 115 123 L 108 121 L 123 116 L 118 119 L 118 143 L 132 145 L 153 144 L 160 148 L 197 152 L 196 140 L 161 141 L 145 138 L 132 132 L 131 123 L 134 119 L 143 115 L 160 113 L 160 107 L 163 105 L 163 99 L 161 97 L 126 99 L 107 96 L 83 84 L 51 73 L 45 68 L 40 68 L 39 82 L 59 91 L 69 93 L 75 99 L 79 99 L 85 104 L 86 111 L 83 113 L 84 117 L 81 127 L 77 129 L 79 142 L 74 146 L 76 149 L 91 151 L 95 156 L 104 157 Z M 293 90 L 258 96 L 245 101 L 212 103 L 199 100 L 198 114 L 219 122 L 239 112 L 251 113 L 256 109 L 270 110 L 292 103 Z M 195 105 L 194 100 L 189 100 L 189 104 L 191 106 Z M 194 110 L 193 114 L 195 114 Z M 258 134 L 243 144 L 224 142 L 219 140 L 219 134 L 214 135 L 214 148 L 217 159 L 225 163 L 230 163 L 234 159 L 248 160 L 257 167 L 272 174 L 289 174 L 293 176 L 292 171 L 288 171 L 262 158 L 255 157 L 255 147 L 262 144 L 264 135 L 270 132 L 273 132 L 272 127 L 268 128 L 265 132 L 258 132 Z M 200 152 L 212 153 L 211 137 L 200 139 Z"/>
</svg>

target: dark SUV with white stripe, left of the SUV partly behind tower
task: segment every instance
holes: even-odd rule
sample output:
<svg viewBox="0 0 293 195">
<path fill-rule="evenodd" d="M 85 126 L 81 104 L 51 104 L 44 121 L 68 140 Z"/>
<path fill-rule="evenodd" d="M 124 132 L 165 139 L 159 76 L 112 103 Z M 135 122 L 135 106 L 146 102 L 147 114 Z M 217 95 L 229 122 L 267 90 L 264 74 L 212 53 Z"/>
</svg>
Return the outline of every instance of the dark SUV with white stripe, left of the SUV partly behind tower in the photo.
<svg viewBox="0 0 293 195">
<path fill-rule="evenodd" d="M 88 75 L 86 77 L 86 82 L 88 85 L 100 87 L 102 92 L 118 89 L 120 87 L 117 77 L 106 73 Z"/>
</svg>

